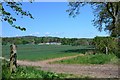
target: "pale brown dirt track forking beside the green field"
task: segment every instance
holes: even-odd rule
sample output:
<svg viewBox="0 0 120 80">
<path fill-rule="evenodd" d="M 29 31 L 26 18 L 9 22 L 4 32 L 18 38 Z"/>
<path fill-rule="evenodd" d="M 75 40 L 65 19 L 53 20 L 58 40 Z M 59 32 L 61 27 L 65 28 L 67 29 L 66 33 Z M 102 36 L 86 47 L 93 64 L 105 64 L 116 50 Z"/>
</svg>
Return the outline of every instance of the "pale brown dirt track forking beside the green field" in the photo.
<svg viewBox="0 0 120 80">
<path fill-rule="evenodd" d="M 91 76 L 96 78 L 118 78 L 119 76 L 118 65 L 49 64 L 49 62 L 74 58 L 77 56 L 83 56 L 83 55 L 55 58 L 55 59 L 36 61 L 36 62 L 18 60 L 17 63 L 18 65 L 24 65 L 24 66 L 37 66 L 37 67 L 40 66 L 42 70 L 56 72 L 56 73 L 84 75 L 84 76 Z"/>
</svg>

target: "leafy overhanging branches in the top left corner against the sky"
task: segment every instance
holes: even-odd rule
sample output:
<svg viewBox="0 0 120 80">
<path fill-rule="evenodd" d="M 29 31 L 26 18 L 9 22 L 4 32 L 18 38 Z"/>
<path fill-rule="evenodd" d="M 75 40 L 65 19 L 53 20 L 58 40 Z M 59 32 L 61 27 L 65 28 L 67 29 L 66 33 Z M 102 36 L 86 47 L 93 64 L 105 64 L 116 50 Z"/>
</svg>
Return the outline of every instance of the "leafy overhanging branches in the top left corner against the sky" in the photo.
<svg viewBox="0 0 120 80">
<path fill-rule="evenodd" d="M 4 4 L 4 6 L 3 6 L 3 4 Z M 7 1 L 5 1 L 5 2 L 0 3 L 0 11 L 2 11 L 1 21 L 6 21 L 12 27 L 15 27 L 16 29 L 20 29 L 22 31 L 25 31 L 26 28 L 14 24 L 14 22 L 17 21 L 17 20 L 14 17 L 14 15 L 11 15 L 11 13 L 5 9 L 5 6 L 11 8 L 13 10 L 13 12 L 15 12 L 17 15 L 21 15 L 22 18 L 23 18 L 23 16 L 28 16 L 28 17 L 34 19 L 32 14 L 29 11 L 24 11 L 22 9 L 22 3 L 21 2 L 14 2 L 14 1 L 7 2 Z"/>
</svg>

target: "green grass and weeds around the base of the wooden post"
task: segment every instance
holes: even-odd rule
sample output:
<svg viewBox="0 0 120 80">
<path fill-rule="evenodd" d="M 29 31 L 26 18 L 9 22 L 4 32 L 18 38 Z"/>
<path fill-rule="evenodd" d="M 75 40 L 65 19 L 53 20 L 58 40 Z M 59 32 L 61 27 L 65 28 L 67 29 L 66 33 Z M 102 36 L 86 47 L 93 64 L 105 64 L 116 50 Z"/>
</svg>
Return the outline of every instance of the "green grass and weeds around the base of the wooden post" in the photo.
<svg viewBox="0 0 120 80">
<path fill-rule="evenodd" d="M 2 65 L 2 79 L 17 79 L 17 78 L 42 78 L 42 79 L 58 79 L 65 77 L 64 74 L 56 74 L 54 72 L 45 72 L 35 69 L 34 67 L 18 66 L 15 73 L 10 73 L 8 64 Z"/>
</svg>

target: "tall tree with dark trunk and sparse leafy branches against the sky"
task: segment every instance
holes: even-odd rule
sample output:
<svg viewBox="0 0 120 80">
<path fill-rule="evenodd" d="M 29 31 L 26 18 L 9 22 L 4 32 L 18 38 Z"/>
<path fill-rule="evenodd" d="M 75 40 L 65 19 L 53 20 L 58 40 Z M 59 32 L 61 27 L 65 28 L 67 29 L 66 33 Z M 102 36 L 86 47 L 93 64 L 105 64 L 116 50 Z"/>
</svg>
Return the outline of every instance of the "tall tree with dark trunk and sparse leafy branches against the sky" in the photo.
<svg viewBox="0 0 120 80">
<path fill-rule="evenodd" d="M 69 2 L 69 12 L 70 16 L 75 17 L 79 14 L 79 8 L 90 4 L 94 10 L 94 26 L 98 28 L 99 31 L 103 29 L 109 31 L 110 35 L 113 37 L 120 36 L 120 2 Z"/>
</svg>

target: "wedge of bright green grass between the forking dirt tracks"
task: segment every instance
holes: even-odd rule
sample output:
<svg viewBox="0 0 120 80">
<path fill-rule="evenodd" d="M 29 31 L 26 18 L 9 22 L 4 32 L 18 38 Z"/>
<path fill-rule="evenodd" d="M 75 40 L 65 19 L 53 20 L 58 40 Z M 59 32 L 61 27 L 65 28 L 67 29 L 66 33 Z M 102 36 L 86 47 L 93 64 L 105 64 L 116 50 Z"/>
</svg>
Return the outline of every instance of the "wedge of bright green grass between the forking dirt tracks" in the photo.
<svg viewBox="0 0 120 80">
<path fill-rule="evenodd" d="M 56 61 L 55 63 L 63 63 L 63 64 L 106 64 L 113 63 L 116 64 L 118 62 L 118 58 L 114 54 L 95 54 L 95 55 L 85 55 L 78 56 L 73 59 Z"/>
</svg>

